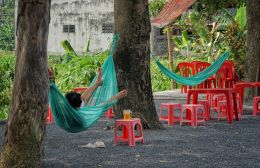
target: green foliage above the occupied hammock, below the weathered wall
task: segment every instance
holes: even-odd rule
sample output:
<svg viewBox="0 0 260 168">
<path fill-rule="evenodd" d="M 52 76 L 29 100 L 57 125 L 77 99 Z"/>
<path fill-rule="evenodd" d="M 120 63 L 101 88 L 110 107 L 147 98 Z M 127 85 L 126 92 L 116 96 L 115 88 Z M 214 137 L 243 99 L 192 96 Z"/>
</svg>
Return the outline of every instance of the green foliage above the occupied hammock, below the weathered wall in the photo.
<svg viewBox="0 0 260 168">
<path fill-rule="evenodd" d="M 74 87 L 88 86 L 95 77 L 97 68 L 103 64 L 107 56 L 108 52 L 71 57 L 72 59 L 66 63 L 64 63 L 65 57 L 50 56 L 49 64 L 54 66 L 59 88 L 63 92 L 68 92 Z"/>
</svg>

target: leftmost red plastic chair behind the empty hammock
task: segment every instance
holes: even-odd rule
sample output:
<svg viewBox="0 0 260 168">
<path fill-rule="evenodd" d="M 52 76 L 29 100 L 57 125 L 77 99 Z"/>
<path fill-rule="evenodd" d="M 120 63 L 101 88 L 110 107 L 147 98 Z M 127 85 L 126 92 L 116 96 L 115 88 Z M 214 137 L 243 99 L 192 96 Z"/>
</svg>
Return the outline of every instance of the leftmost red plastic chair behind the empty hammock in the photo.
<svg viewBox="0 0 260 168">
<path fill-rule="evenodd" d="M 183 77 L 190 77 L 195 74 L 195 67 L 189 62 L 180 62 L 177 65 L 177 69 Z M 191 86 L 189 88 L 191 88 Z M 181 93 L 187 93 L 187 90 L 187 86 L 182 85 Z"/>
</svg>

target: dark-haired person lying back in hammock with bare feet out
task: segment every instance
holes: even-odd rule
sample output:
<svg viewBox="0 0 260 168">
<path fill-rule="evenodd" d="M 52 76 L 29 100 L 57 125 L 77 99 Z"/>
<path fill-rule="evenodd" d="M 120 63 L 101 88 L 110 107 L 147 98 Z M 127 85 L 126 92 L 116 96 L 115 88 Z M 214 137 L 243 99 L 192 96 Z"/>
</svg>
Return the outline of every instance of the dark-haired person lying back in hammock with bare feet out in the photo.
<svg viewBox="0 0 260 168">
<path fill-rule="evenodd" d="M 49 72 L 50 80 L 54 81 L 55 78 L 54 78 L 53 68 L 49 68 L 48 72 Z M 82 94 L 79 94 L 74 91 L 68 92 L 65 94 L 65 97 L 72 107 L 74 108 L 85 107 L 88 104 L 94 91 L 101 85 L 102 85 L 102 69 L 98 68 L 98 77 L 93 86 L 89 87 Z M 128 94 L 127 90 L 122 90 L 117 95 L 112 96 L 108 101 L 119 100 L 127 96 L 127 94 Z"/>
</svg>

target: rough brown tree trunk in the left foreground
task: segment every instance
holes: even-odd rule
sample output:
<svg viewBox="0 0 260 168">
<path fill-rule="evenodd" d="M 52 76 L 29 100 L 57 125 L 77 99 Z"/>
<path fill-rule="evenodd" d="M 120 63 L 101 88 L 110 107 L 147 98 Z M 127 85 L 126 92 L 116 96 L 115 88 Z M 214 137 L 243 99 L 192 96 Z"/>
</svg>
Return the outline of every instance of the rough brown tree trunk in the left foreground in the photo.
<svg viewBox="0 0 260 168">
<path fill-rule="evenodd" d="M 0 167 L 40 167 L 48 107 L 50 0 L 19 0 L 15 80 Z"/>
</svg>

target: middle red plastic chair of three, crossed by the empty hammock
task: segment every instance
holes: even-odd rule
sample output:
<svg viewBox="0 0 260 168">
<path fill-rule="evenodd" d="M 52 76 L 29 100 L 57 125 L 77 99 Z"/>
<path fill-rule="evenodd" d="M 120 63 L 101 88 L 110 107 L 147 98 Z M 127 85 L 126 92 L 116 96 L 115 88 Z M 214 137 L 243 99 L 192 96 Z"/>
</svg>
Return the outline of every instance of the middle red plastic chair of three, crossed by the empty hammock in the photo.
<svg viewBox="0 0 260 168">
<path fill-rule="evenodd" d="M 203 71 L 208 68 L 211 64 L 208 62 L 198 62 L 196 63 L 195 69 L 196 73 Z M 198 85 L 199 88 L 216 88 L 216 78 L 215 76 L 209 77 L 204 83 Z"/>
</svg>

